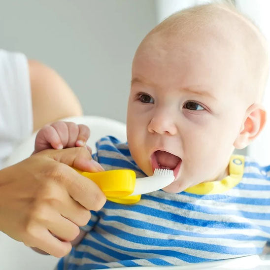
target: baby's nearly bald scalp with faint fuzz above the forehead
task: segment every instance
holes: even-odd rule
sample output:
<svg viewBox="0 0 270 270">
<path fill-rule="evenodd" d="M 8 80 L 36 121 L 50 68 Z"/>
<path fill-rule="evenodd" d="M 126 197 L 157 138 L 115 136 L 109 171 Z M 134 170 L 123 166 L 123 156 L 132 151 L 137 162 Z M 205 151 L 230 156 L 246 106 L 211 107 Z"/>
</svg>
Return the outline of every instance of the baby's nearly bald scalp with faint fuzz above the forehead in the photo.
<svg viewBox="0 0 270 270">
<path fill-rule="evenodd" d="M 178 11 L 146 35 L 144 42 L 158 36 L 164 45 L 177 47 L 184 40 L 222 45 L 232 53 L 232 65 L 239 65 L 239 90 L 248 102 L 260 102 L 268 77 L 267 42 L 259 29 L 233 5 L 209 3 Z M 238 73 L 239 72 L 239 73 Z M 236 74 L 236 75 L 237 75 Z"/>
</svg>

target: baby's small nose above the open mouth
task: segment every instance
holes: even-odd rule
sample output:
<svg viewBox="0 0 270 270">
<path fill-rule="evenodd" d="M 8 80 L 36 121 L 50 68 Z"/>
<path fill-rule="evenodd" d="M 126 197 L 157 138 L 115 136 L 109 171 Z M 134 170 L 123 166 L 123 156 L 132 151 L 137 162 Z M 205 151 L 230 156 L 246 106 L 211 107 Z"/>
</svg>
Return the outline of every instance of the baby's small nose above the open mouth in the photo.
<svg viewBox="0 0 270 270">
<path fill-rule="evenodd" d="M 155 114 L 147 127 L 150 133 L 175 135 L 177 127 L 168 113 Z"/>
</svg>

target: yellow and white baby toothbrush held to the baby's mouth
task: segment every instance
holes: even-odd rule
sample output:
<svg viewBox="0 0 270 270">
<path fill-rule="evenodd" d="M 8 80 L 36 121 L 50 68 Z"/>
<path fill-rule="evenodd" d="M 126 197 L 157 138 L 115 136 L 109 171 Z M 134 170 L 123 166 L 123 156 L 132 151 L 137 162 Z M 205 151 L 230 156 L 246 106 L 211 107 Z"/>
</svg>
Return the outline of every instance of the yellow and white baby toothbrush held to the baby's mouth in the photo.
<svg viewBox="0 0 270 270">
<path fill-rule="evenodd" d="M 126 204 L 138 202 L 141 194 L 167 187 L 174 180 L 173 170 L 170 169 L 155 169 L 152 176 L 137 179 L 135 171 L 131 169 L 101 172 L 76 169 L 76 171 L 94 181 L 103 191 L 107 200 Z"/>
</svg>

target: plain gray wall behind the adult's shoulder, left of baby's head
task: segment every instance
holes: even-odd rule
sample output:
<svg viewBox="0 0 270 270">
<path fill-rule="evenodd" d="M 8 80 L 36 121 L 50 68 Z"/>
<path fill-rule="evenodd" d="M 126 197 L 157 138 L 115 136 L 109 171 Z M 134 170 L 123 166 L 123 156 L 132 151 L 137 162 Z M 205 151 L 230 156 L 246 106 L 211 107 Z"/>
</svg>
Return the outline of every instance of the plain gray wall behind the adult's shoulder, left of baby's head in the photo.
<svg viewBox="0 0 270 270">
<path fill-rule="evenodd" d="M 131 63 L 154 0 L 0 0 L 0 48 L 56 69 L 84 113 L 126 121 Z"/>
</svg>

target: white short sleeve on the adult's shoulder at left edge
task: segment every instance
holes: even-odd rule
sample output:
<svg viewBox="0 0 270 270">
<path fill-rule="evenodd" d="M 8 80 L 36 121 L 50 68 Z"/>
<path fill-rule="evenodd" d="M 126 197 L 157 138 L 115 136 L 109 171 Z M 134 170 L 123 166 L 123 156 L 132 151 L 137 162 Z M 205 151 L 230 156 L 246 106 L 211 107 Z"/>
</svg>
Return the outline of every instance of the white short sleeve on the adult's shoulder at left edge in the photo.
<svg viewBox="0 0 270 270">
<path fill-rule="evenodd" d="M 28 60 L 0 49 L 0 168 L 22 140 L 33 133 Z"/>
</svg>

